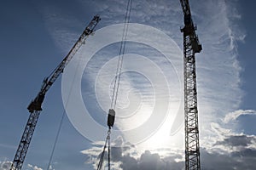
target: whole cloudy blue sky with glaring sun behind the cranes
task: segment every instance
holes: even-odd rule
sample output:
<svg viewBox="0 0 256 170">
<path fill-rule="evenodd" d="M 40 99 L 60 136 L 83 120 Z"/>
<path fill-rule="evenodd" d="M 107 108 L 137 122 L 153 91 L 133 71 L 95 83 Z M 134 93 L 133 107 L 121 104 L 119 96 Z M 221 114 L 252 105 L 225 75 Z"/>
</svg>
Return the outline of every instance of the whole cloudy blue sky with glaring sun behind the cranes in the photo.
<svg viewBox="0 0 256 170">
<path fill-rule="evenodd" d="M 92 17 L 102 20 L 49 89 L 22 169 L 95 169 L 128 1 L 9 0 L 0 5 L 0 170 L 9 168 L 44 77 Z M 256 100 L 253 1 L 189 1 L 196 54 L 202 169 L 253 169 Z M 111 134 L 113 169 L 183 169 L 183 13 L 176 0 L 131 4 Z M 82 105 L 79 105 L 82 104 Z"/>
</svg>

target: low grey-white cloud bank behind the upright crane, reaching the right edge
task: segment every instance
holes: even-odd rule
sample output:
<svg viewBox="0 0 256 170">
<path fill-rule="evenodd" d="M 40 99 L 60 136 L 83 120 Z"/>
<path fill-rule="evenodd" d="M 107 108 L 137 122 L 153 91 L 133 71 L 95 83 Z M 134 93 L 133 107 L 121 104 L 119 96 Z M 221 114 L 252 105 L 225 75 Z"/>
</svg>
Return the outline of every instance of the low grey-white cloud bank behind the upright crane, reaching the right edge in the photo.
<svg viewBox="0 0 256 170">
<path fill-rule="evenodd" d="M 221 129 L 219 127 L 218 129 Z M 225 130 L 221 130 L 225 132 Z M 212 145 L 211 148 L 201 148 L 201 168 L 203 169 L 254 169 L 256 156 L 255 136 L 245 134 L 230 135 L 223 133 L 223 138 Z M 114 144 L 115 143 L 115 144 Z M 116 147 L 119 146 L 119 147 Z M 99 147 L 99 146 L 97 146 Z M 100 149 L 100 148 L 98 148 Z M 125 144 L 122 139 L 113 142 L 111 148 L 111 166 L 113 170 L 155 170 L 155 169 L 172 169 L 180 170 L 184 168 L 184 157 L 182 154 L 172 149 L 166 150 L 169 154 L 160 155 L 160 150 L 145 150 L 138 154 L 134 146 Z M 135 153 L 136 152 L 136 153 Z M 93 157 L 87 163 L 96 167 L 99 161 L 99 152 L 90 152 L 83 150 L 82 153 L 87 157 Z M 107 163 L 108 157 L 105 157 Z M 214 168 L 213 168 L 214 167 Z"/>
</svg>

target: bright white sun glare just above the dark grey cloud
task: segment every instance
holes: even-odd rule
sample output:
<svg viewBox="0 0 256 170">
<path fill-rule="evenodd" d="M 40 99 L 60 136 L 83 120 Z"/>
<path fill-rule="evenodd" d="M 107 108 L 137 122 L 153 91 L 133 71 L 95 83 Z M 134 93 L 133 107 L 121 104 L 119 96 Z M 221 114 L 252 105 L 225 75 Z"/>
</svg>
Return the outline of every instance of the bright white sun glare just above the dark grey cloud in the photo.
<svg viewBox="0 0 256 170">
<path fill-rule="evenodd" d="M 124 138 L 133 144 L 132 141 L 135 142 L 138 150 L 165 150 L 165 149 L 182 149 L 183 148 L 183 126 L 181 124 L 176 128 L 175 133 L 171 133 L 172 125 L 175 121 L 179 121 L 177 119 L 177 114 L 181 114 L 179 110 L 180 103 L 177 103 L 175 106 L 169 109 L 168 113 L 164 120 L 162 120 L 161 124 L 157 129 L 154 129 L 154 133 L 148 132 L 139 132 L 137 135 L 132 135 L 131 133 L 125 133 L 126 129 L 131 129 L 132 127 L 143 126 L 150 115 L 148 113 L 152 112 L 154 109 L 153 106 L 143 106 L 141 105 L 139 111 L 135 114 L 132 114 L 129 118 L 125 118 L 124 120 L 119 119 L 116 121 L 117 127 L 124 131 Z M 183 115 L 182 115 L 183 116 Z M 149 128 L 149 127 L 148 127 Z M 144 136 L 145 133 L 148 133 L 148 136 Z M 143 136 L 145 139 L 142 141 L 137 141 L 140 139 L 139 137 Z M 165 153 L 162 153 L 165 154 Z"/>
</svg>

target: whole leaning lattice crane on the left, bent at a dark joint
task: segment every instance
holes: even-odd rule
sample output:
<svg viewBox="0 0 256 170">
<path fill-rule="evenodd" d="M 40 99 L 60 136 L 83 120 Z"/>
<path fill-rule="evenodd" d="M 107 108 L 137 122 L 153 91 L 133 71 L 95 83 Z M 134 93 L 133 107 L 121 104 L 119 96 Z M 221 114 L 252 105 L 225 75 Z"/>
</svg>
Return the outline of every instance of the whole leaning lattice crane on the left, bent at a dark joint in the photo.
<svg viewBox="0 0 256 170">
<path fill-rule="evenodd" d="M 98 15 L 93 17 L 93 19 L 90 21 L 90 24 L 86 26 L 84 32 L 79 37 L 79 40 L 73 45 L 73 48 L 71 48 L 67 56 L 61 61 L 61 63 L 55 68 L 55 70 L 49 75 L 49 77 L 44 79 L 43 85 L 38 95 L 28 105 L 27 110 L 30 112 L 30 116 L 26 123 L 24 133 L 22 134 L 22 137 L 20 139 L 20 144 L 16 151 L 15 159 L 12 163 L 10 170 L 20 170 L 23 165 L 23 162 L 26 157 L 26 152 L 28 150 L 33 132 L 38 122 L 38 117 L 40 115 L 40 112 L 42 111 L 42 104 L 44 101 L 45 94 L 52 86 L 52 84 L 55 82 L 55 80 L 61 75 L 61 72 L 63 72 L 65 66 L 79 50 L 85 39 L 89 37 L 91 33 L 93 33 L 96 25 L 100 20 L 101 18 Z"/>
</svg>

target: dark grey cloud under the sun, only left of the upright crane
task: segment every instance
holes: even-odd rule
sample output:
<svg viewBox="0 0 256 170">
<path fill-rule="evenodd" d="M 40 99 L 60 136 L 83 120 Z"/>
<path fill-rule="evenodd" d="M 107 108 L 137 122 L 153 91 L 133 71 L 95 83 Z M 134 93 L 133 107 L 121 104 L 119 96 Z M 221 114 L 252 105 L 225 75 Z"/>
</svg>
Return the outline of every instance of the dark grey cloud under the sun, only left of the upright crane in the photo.
<svg viewBox="0 0 256 170">
<path fill-rule="evenodd" d="M 100 148 L 98 148 L 100 149 Z M 101 152 L 95 152 L 95 150 L 82 150 L 81 151 L 90 159 L 87 163 L 93 164 L 96 168 L 99 156 Z M 105 155 L 105 166 L 107 166 L 108 153 Z M 113 141 L 111 147 L 111 169 L 113 170 L 154 170 L 162 169 L 167 170 L 170 167 L 172 169 L 182 169 L 183 162 L 176 161 L 177 158 L 182 158 L 179 155 L 160 156 L 158 153 L 145 150 L 141 155 L 138 154 L 134 145 L 125 144 L 123 139 L 118 138 Z"/>
</svg>

